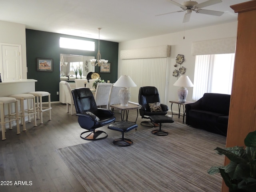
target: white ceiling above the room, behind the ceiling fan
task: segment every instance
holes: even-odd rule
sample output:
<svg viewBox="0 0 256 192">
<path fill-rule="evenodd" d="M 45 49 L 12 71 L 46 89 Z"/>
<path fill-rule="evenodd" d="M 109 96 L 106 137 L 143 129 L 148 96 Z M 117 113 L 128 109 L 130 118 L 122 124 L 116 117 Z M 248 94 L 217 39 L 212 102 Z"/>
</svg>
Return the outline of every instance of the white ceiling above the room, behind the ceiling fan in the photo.
<svg viewBox="0 0 256 192">
<path fill-rule="evenodd" d="M 182 3 L 184 0 L 175 0 Z M 198 3 L 206 0 L 197 0 Z M 248 0 L 222 0 L 204 9 L 222 11 L 222 16 L 185 12 L 170 0 L 0 0 L 0 20 L 25 24 L 27 29 L 123 42 L 204 26 L 237 21 L 230 5 Z"/>
</svg>

